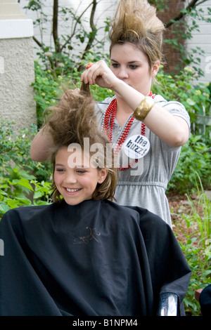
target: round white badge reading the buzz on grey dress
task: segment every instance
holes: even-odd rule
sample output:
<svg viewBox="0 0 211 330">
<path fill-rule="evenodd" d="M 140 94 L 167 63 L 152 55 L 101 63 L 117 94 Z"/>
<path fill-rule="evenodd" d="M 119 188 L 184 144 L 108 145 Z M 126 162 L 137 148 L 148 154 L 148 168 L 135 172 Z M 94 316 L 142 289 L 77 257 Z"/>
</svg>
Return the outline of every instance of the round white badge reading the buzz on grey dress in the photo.
<svg viewBox="0 0 211 330">
<path fill-rule="evenodd" d="M 122 148 L 127 157 L 132 159 L 139 159 L 144 157 L 150 150 L 151 144 L 146 136 L 137 134 L 131 136 L 124 141 Z"/>
</svg>

